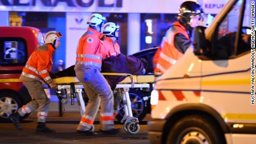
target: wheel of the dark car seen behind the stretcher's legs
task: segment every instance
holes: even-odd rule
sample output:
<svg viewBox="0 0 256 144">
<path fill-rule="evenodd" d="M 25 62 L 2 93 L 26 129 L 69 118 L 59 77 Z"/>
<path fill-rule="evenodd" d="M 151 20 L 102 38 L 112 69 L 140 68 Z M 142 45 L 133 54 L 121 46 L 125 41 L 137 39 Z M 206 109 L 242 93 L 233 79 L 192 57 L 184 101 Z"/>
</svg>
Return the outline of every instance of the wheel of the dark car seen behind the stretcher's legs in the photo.
<svg viewBox="0 0 256 144">
<path fill-rule="evenodd" d="M 146 93 L 140 90 L 130 90 L 129 91 L 130 101 L 135 103 L 131 103 L 131 111 L 132 116 L 139 119 L 139 121 L 142 121 L 143 118 L 146 116 L 148 108 L 150 107 L 150 102 L 147 100 L 147 102 L 143 101 L 143 97 L 148 96 Z M 141 101 L 138 101 L 141 100 Z M 124 117 L 125 110 L 124 110 L 124 104 L 120 103 L 119 108 L 119 114 L 116 116 L 116 119 L 121 121 Z"/>
</svg>

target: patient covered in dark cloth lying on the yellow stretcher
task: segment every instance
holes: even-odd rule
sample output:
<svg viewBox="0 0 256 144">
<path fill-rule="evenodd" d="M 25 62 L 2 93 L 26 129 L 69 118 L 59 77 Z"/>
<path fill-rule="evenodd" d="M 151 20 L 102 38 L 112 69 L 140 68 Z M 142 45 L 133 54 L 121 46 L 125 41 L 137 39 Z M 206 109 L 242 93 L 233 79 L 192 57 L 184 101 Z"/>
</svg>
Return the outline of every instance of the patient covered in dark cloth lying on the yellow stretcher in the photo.
<svg viewBox="0 0 256 144">
<path fill-rule="evenodd" d="M 131 75 L 144 75 L 145 69 L 147 68 L 148 62 L 144 58 L 136 58 L 134 56 L 125 56 L 119 54 L 118 56 L 109 57 L 102 61 L 101 72 L 107 73 L 130 73 Z M 50 73 L 52 78 L 58 77 L 75 77 L 76 73 L 74 65 L 70 66 L 63 71 L 57 73 Z M 105 76 L 111 90 L 116 88 L 117 83 L 123 81 L 126 76 Z"/>
</svg>

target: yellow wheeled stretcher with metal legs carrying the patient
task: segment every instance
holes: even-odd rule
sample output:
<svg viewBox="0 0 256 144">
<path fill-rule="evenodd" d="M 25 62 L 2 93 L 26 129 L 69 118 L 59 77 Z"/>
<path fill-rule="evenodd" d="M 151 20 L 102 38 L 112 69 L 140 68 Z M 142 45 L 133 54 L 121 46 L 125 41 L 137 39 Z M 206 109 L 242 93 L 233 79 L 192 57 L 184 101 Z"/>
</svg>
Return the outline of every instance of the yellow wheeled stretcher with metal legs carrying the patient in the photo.
<svg viewBox="0 0 256 144">
<path fill-rule="evenodd" d="M 102 73 L 102 75 L 111 76 L 127 76 L 125 80 L 117 84 L 116 89 L 120 88 L 122 93 L 122 103 L 124 104 L 124 117 L 121 123 L 126 132 L 136 134 L 140 130 L 139 120 L 132 116 L 131 101 L 129 97 L 129 88 L 147 88 L 149 91 L 154 87 L 154 75 L 132 76 L 128 73 Z M 82 97 L 82 83 L 76 77 L 60 77 L 53 80 L 57 85 L 57 92 L 65 90 L 67 95 L 71 98 L 71 105 L 73 105 L 73 98 L 77 98 L 78 107 L 80 109 L 81 117 L 85 113 L 85 102 Z M 144 97 L 146 101 L 148 97 Z M 94 126 L 92 127 L 92 131 Z"/>
</svg>

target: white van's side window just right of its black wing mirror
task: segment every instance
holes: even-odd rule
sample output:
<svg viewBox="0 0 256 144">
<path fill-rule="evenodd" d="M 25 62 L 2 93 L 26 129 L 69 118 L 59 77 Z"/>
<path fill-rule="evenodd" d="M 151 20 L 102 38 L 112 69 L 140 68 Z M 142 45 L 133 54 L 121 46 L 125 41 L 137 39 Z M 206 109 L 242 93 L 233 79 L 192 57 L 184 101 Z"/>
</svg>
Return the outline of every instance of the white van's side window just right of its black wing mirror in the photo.
<svg viewBox="0 0 256 144">
<path fill-rule="evenodd" d="M 235 54 L 235 38 L 239 26 L 238 19 L 241 7 L 242 0 L 239 0 L 216 28 L 213 37 L 213 54 L 216 59 L 228 59 Z"/>
</svg>

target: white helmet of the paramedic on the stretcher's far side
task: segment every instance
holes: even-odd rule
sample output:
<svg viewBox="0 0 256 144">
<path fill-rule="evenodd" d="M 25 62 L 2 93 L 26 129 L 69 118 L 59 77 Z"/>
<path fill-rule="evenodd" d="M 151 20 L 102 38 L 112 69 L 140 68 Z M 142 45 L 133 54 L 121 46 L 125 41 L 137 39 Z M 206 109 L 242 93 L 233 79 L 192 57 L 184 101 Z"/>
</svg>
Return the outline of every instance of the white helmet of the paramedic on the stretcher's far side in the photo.
<svg viewBox="0 0 256 144">
<path fill-rule="evenodd" d="M 105 34 L 107 37 L 115 37 L 115 32 L 119 30 L 119 25 L 114 22 L 108 22 L 104 24 L 103 27 L 103 34 Z"/>
</svg>

